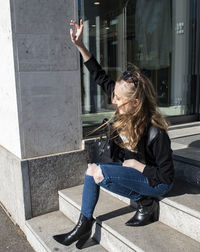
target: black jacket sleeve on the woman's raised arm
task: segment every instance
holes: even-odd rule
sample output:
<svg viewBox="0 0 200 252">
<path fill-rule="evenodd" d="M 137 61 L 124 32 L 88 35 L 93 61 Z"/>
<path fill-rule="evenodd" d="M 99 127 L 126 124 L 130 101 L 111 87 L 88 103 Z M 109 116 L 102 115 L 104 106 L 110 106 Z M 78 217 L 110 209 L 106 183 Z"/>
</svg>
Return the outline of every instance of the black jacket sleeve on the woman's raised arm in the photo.
<svg viewBox="0 0 200 252">
<path fill-rule="evenodd" d="M 111 101 L 111 94 L 115 87 L 115 81 L 110 79 L 93 55 L 88 61 L 84 62 L 84 65 L 89 70 L 95 83 L 103 88 Z"/>
</svg>

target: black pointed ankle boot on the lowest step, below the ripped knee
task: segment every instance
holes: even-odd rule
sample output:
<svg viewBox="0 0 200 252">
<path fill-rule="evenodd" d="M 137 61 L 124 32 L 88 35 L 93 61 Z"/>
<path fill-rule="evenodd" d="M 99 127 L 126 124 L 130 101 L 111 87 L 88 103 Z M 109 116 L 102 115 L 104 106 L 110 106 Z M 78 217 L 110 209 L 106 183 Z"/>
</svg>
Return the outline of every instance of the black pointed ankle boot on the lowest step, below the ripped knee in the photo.
<svg viewBox="0 0 200 252">
<path fill-rule="evenodd" d="M 78 241 L 76 246 L 81 248 L 90 238 L 92 234 L 92 225 L 94 222 L 94 218 L 89 220 L 84 215 L 80 214 L 78 223 L 72 231 L 66 234 L 54 235 L 53 238 L 65 246 L 69 246 L 73 242 Z"/>
</svg>

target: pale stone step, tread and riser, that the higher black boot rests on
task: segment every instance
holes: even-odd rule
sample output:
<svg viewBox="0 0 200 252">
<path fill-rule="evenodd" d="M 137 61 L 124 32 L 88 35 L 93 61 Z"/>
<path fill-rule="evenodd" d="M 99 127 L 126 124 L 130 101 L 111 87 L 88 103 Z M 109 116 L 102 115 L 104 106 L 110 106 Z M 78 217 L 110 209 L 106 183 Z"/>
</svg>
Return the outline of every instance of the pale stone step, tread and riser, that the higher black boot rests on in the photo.
<svg viewBox="0 0 200 252">
<path fill-rule="evenodd" d="M 60 211 L 77 222 L 81 209 L 82 186 L 59 191 Z M 132 207 L 101 190 L 94 217 L 94 238 L 110 252 L 118 251 L 200 251 L 200 243 L 161 223 L 127 227 Z"/>
</svg>

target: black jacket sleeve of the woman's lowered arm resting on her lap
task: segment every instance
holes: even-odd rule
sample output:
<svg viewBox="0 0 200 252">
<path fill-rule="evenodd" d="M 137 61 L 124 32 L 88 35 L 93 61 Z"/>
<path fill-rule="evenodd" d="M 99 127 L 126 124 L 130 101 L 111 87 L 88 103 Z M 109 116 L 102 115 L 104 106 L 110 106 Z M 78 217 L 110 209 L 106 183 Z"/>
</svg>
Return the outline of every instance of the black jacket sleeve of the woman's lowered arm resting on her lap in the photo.
<svg viewBox="0 0 200 252">
<path fill-rule="evenodd" d="M 159 183 L 170 184 L 174 178 L 174 165 L 171 150 L 171 141 L 168 134 L 160 131 L 149 148 L 152 151 L 155 163 L 146 164 L 143 174 L 148 178 L 149 184 L 155 186 Z"/>
</svg>

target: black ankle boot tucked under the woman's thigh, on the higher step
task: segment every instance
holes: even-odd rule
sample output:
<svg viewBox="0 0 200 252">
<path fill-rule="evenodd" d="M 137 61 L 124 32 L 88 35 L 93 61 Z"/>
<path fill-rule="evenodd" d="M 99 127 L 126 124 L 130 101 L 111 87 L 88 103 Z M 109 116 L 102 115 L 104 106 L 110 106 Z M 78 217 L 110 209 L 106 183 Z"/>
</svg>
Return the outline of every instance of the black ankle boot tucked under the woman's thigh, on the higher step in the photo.
<svg viewBox="0 0 200 252">
<path fill-rule="evenodd" d="M 146 201 L 146 202 L 145 202 Z M 145 204 L 147 203 L 147 204 Z M 158 220 L 159 204 L 153 198 L 144 198 L 138 201 L 138 210 L 135 215 L 128 220 L 126 226 L 144 226 Z"/>
</svg>

